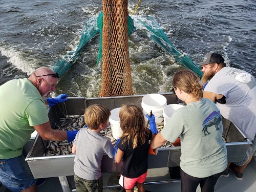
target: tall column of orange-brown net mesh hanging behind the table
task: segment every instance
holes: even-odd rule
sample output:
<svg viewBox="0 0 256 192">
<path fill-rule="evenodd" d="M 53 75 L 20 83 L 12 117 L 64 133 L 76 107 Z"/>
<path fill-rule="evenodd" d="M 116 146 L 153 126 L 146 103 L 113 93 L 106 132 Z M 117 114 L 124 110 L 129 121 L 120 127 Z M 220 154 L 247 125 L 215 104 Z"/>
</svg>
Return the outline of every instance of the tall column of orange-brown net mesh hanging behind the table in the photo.
<svg viewBox="0 0 256 192">
<path fill-rule="evenodd" d="M 133 95 L 127 0 L 102 0 L 102 85 L 99 97 Z"/>
</svg>

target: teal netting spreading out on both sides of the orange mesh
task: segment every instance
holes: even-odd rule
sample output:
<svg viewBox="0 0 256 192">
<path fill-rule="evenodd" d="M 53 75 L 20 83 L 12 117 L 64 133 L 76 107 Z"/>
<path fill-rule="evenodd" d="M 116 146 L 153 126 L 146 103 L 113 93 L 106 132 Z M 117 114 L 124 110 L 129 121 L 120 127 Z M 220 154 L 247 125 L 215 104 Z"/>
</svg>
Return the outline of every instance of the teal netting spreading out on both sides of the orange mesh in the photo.
<svg viewBox="0 0 256 192">
<path fill-rule="evenodd" d="M 146 16 L 147 23 L 150 23 L 151 27 L 144 23 L 142 20 L 137 19 L 147 29 L 151 35 L 150 37 L 170 55 L 174 56 L 175 60 L 184 68 L 194 71 L 199 77 L 202 77 L 203 73 L 196 62 L 191 60 L 186 54 L 181 53 L 164 34 L 159 24 L 155 22 L 154 17 Z M 133 19 L 128 16 L 128 36 L 132 33 L 134 28 Z M 83 29 L 80 37 L 79 45 L 75 51 L 71 51 L 65 55 L 63 59 L 58 59 L 52 70 L 59 74 L 61 77 L 68 69 L 71 68 L 79 54 L 88 45 L 88 42 L 98 33 L 102 34 L 103 26 L 103 12 L 95 20 L 89 20 Z M 97 63 L 102 57 L 102 36 L 100 35 L 99 40 L 99 53 Z M 96 63 L 96 65 L 97 65 Z"/>
</svg>

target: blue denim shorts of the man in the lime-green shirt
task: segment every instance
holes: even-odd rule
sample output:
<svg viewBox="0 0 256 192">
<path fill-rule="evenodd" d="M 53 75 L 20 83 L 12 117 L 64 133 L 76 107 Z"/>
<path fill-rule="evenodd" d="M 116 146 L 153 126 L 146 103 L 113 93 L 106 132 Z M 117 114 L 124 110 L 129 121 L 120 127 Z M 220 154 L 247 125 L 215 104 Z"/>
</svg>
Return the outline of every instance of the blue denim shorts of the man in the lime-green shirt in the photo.
<svg viewBox="0 0 256 192">
<path fill-rule="evenodd" d="M 23 154 L 0 159 L 0 181 L 11 191 L 21 191 L 36 183 Z"/>
</svg>

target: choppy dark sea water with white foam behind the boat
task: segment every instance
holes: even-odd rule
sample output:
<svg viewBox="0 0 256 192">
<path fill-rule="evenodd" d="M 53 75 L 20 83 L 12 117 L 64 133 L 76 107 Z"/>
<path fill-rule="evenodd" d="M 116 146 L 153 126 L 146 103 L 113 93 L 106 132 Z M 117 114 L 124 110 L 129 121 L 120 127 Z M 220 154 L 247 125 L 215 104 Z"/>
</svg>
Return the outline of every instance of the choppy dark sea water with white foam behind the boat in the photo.
<svg viewBox="0 0 256 192">
<path fill-rule="evenodd" d="M 129 1 L 133 12 L 138 1 Z M 102 12 L 102 1 L 1 0 L 0 85 L 28 77 L 38 67 L 54 66 L 76 50 L 85 24 Z M 256 1 L 141 1 L 129 52 L 135 94 L 169 92 L 172 75 L 181 67 L 151 38 L 137 19 L 151 16 L 168 39 L 193 61 L 209 51 L 222 54 L 226 63 L 256 76 Z M 147 21 L 151 22 L 151 21 Z M 99 35 L 60 78 L 56 94 L 97 97 L 102 62 L 96 66 Z"/>
</svg>

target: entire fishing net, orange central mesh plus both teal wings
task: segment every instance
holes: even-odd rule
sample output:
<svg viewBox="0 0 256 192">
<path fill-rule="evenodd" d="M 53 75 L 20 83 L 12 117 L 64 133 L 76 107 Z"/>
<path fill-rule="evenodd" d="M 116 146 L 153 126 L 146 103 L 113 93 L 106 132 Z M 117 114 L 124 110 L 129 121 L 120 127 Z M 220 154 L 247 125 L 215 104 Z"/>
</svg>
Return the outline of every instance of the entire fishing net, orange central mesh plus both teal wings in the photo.
<svg viewBox="0 0 256 192">
<path fill-rule="evenodd" d="M 103 13 L 106 16 L 103 17 Z M 198 64 L 186 54 L 181 53 L 170 42 L 154 17 L 147 15 L 140 18 L 136 19 L 135 24 L 141 24 L 139 27 L 147 31 L 148 37 L 172 55 L 182 67 L 190 69 L 202 77 L 203 73 Z M 103 55 L 103 64 L 102 86 L 99 96 L 133 95 L 128 49 L 128 36 L 133 29 L 133 19 L 127 13 L 127 1 L 103 0 L 103 12 L 98 16 L 97 21 L 94 17 L 87 21 L 78 47 L 69 51 L 63 58 L 58 59 L 52 70 L 59 73 L 61 77 L 71 68 L 89 41 L 100 32 L 97 63 Z"/>
</svg>

